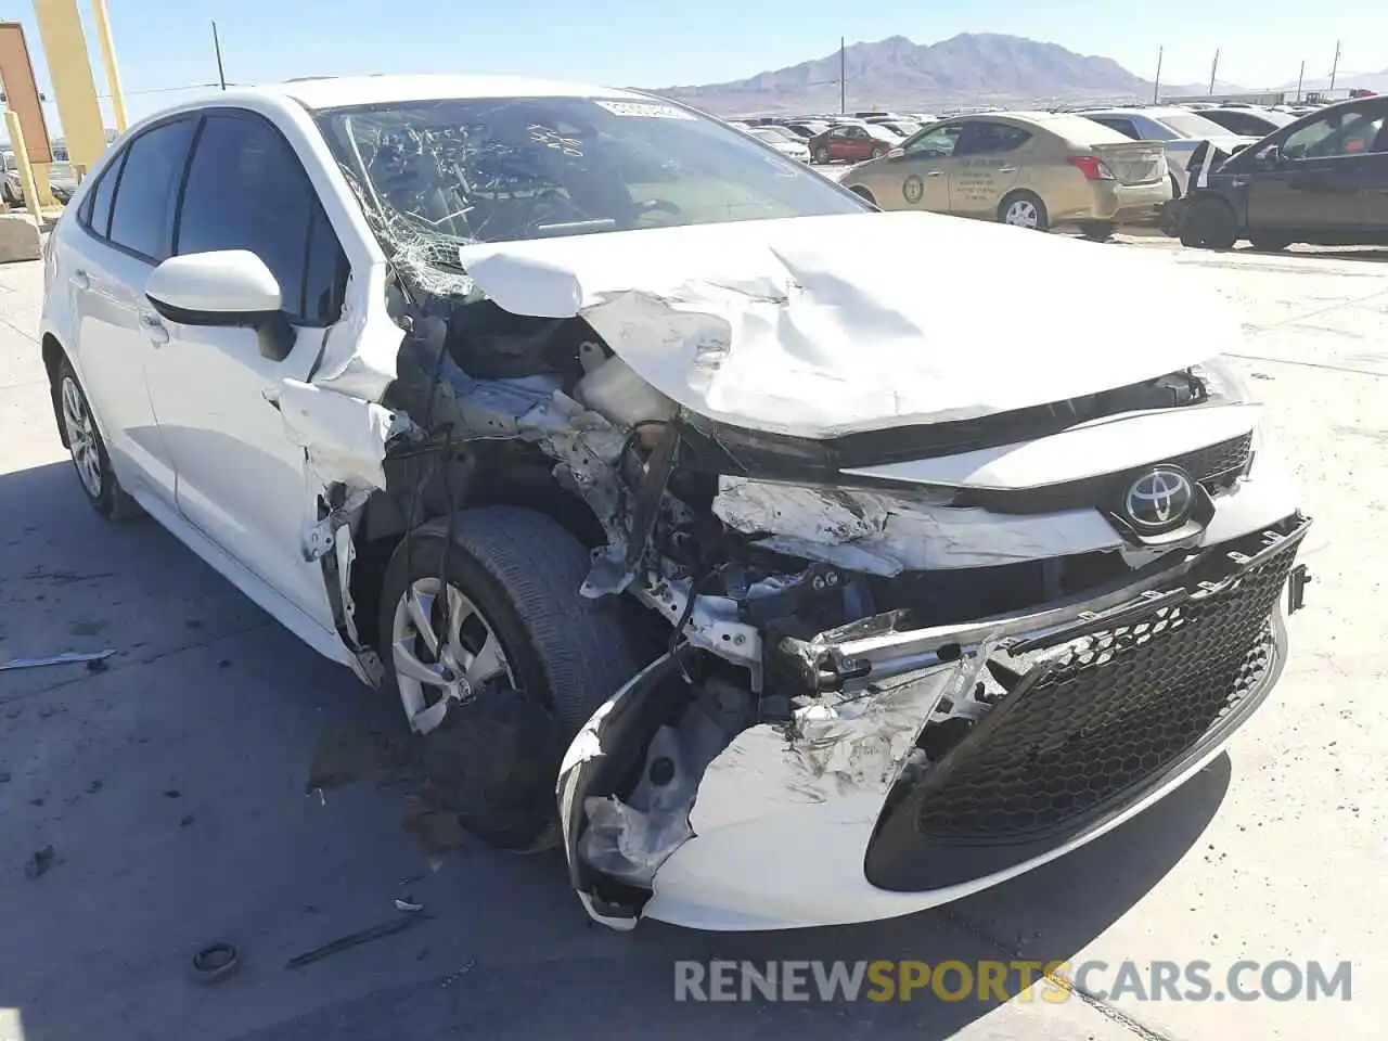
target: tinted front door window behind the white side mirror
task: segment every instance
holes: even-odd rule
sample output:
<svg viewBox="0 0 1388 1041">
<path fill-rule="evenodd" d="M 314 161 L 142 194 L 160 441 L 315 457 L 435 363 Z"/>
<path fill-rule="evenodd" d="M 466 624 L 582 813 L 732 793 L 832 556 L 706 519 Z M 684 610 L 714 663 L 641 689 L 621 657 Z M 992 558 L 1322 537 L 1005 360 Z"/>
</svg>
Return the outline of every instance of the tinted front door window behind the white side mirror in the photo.
<svg viewBox="0 0 1388 1041">
<path fill-rule="evenodd" d="M 291 322 L 337 321 L 341 247 L 289 142 L 250 112 L 208 115 L 189 167 L 176 251 L 211 250 L 250 250 L 265 261 Z"/>
</svg>

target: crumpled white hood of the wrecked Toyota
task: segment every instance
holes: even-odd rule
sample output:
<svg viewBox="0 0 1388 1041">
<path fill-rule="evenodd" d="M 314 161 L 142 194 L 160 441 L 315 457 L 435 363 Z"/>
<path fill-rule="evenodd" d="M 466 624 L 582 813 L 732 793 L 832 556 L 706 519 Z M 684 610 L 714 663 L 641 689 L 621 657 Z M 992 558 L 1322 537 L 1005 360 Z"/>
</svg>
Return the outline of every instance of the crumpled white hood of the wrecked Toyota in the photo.
<svg viewBox="0 0 1388 1041">
<path fill-rule="evenodd" d="M 917 212 L 465 246 L 507 311 L 582 315 L 700 415 L 806 437 L 970 419 L 1230 350 L 1233 310 L 1169 257 Z M 1160 301 L 1166 321 L 1142 318 Z"/>
</svg>

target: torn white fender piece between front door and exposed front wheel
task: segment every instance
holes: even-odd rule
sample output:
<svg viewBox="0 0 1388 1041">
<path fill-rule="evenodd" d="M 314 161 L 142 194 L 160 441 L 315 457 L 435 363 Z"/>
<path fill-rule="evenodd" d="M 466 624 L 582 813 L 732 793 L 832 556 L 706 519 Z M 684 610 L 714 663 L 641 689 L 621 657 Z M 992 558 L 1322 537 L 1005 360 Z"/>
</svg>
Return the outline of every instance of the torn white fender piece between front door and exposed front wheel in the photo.
<svg viewBox="0 0 1388 1041">
<path fill-rule="evenodd" d="M 384 489 L 386 441 L 412 426 L 403 412 L 296 379 L 280 380 L 273 404 L 325 487 Z"/>
</svg>

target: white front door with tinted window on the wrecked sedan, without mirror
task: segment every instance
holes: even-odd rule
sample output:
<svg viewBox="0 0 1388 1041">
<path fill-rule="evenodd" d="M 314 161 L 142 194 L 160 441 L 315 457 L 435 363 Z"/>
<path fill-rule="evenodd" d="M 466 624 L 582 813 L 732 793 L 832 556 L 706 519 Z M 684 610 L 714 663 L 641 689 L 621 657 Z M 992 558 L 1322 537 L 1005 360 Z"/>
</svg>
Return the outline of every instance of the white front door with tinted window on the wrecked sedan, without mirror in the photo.
<svg viewBox="0 0 1388 1041">
<path fill-rule="evenodd" d="M 179 511 L 328 632 L 322 568 L 304 559 L 316 489 L 271 398 L 308 380 L 341 310 L 346 260 L 294 150 L 265 118 L 208 112 L 193 147 L 174 253 L 250 250 L 279 282 L 296 330 L 283 361 L 254 329 L 160 319 L 146 380 L 176 475 Z"/>
</svg>

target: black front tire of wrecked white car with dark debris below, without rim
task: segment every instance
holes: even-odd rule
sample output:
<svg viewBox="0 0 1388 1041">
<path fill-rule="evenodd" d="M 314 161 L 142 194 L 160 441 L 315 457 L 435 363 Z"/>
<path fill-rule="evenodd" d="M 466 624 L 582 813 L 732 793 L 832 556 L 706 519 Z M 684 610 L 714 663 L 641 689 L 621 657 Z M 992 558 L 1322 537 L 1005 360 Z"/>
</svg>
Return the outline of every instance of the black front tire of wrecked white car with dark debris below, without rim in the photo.
<svg viewBox="0 0 1388 1041">
<path fill-rule="evenodd" d="M 501 647 L 509 676 L 452 702 L 422 738 L 443 805 L 500 848 L 530 849 L 552 837 L 569 741 L 641 665 L 619 605 L 579 594 L 590 565 L 555 520 L 501 505 L 459 511 L 451 537 L 444 519 L 422 525 L 386 565 L 378 632 L 387 691 L 401 695 L 397 609 L 421 580 L 444 573 Z"/>
</svg>

